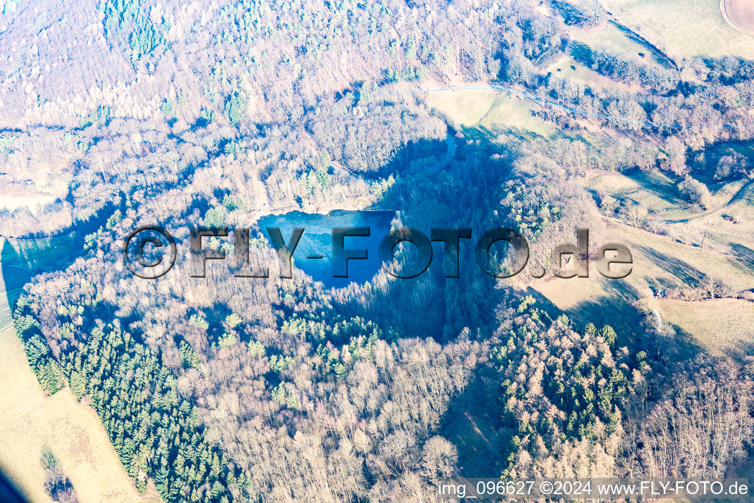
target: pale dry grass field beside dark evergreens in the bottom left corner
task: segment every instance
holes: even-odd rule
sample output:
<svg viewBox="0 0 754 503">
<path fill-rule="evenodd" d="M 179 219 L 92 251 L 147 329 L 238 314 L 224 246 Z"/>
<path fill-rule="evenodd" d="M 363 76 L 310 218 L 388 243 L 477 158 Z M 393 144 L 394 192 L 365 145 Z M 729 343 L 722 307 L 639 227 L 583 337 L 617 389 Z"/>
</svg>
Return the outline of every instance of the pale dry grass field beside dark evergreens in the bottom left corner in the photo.
<svg viewBox="0 0 754 503">
<path fill-rule="evenodd" d="M 0 467 L 31 503 L 48 503 L 43 447 L 54 453 L 81 503 L 142 498 L 125 473 L 100 419 L 68 388 L 46 397 L 12 327 L 0 332 Z"/>
</svg>

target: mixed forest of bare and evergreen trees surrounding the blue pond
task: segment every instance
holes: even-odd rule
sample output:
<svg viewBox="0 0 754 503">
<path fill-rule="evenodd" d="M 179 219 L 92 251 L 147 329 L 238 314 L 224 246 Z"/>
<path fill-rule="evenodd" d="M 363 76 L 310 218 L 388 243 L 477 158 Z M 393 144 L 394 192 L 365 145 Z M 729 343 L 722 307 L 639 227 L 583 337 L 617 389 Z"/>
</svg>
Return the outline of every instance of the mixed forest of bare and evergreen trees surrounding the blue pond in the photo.
<svg viewBox="0 0 754 503">
<path fill-rule="evenodd" d="M 0 191 L 53 199 L 3 207 L 0 234 L 93 225 L 68 268 L 24 287 L 13 324 L 44 391 L 69 388 L 97 413 L 141 494 L 418 503 L 456 475 L 734 477 L 750 462 L 749 356 L 677 357 L 640 302 L 637 337 L 530 287 L 577 228 L 590 253 L 614 220 L 682 241 L 642 204 L 587 191 L 590 171 L 667 173 L 698 210 L 713 206 L 708 185 L 754 176 L 717 148 L 754 139 L 754 62 L 657 48 L 634 60 L 573 40 L 573 26 L 607 22 L 599 2 L 90 3 L 3 14 L 18 43 L 0 57 Z M 547 71 L 566 56 L 621 85 Z M 418 91 L 459 81 L 556 103 L 531 115 L 571 136 L 483 135 Z M 436 169 L 448 135 L 455 155 Z M 516 278 L 473 259 L 445 278 L 437 260 L 418 278 L 329 289 L 277 274 L 258 221 L 291 210 L 510 227 L 531 256 Z M 192 278 L 188 254 L 136 278 L 123 239 L 155 223 L 181 246 L 189 225 L 247 228 L 250 267 L 270 278 L 240 281 L 229 260 Z M 700 279 L 669 295 L 746 298 Z M 492 433 L 469 443 L 494 459 L 477 473 L 477 446 L 446 431 L 482 414 Z"/>
</svg>

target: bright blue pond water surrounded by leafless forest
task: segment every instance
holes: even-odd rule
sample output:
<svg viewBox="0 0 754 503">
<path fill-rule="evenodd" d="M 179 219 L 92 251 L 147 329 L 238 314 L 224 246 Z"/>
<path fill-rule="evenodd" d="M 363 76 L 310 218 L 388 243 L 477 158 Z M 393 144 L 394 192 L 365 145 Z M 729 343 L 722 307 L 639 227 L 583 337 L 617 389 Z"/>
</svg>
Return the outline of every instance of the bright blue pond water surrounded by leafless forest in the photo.
<svg viewBox="0 0 754 503">
<path fill-rule="evenodd" d="M 378 247 L 382 238 L 390 232 L 393 211 L 348 211 L 336 210 L 325 215 L 291 211 L 282 215 L 268 215 L 259 219 L 259 230 L 270 240 L 265 228 L 279 227 L 286 243 L 293 228 L 303 227 L 304 233 L 293 252 L 293 267 L 321 281 L 325 287 L 346 287 L 351 282 L 371 281 L 382 266 L 378 259 Z M 346 236 L 345 250 L 366 249 L 367 259 L 348 260 L 348 278 L 333 278 L 333 228 L 369 227 L 369 237 Z M 271 241 L 270 241 L 271 242 Z M 322 256 L 321 259 L 308 258 Z"/>
</svg>

